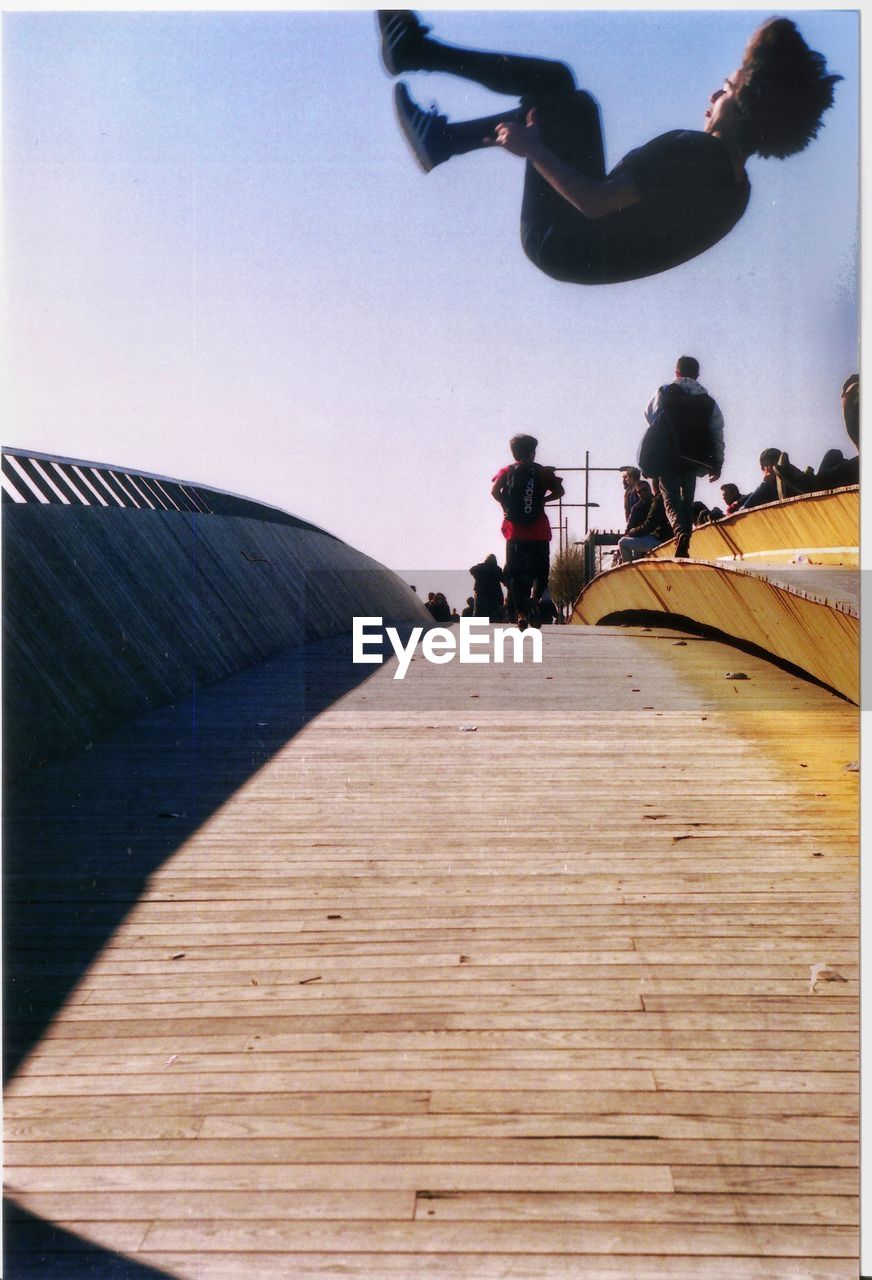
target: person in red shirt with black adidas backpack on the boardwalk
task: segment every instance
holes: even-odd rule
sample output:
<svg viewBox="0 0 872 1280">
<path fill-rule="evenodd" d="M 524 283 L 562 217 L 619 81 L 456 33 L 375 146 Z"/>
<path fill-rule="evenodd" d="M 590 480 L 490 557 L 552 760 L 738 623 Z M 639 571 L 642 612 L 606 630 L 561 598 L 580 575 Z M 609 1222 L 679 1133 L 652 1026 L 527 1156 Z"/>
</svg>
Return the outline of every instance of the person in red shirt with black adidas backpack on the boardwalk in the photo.
<svg viewBox="0 0 872 1280">
<path fill-rule="evenodd" d="M 563 495 L 563 481 L 554 468 L 535 461 L 538 445 L 533 435 L 513 435 L 508 448 L 515 461 L 497 472 L 490 490 L 503 508 L 505 581 L 510 613 L 521 630 L 538 622 L 539 598 L 548 586 L 551 521 L 545 503 Z"/>
</svg>

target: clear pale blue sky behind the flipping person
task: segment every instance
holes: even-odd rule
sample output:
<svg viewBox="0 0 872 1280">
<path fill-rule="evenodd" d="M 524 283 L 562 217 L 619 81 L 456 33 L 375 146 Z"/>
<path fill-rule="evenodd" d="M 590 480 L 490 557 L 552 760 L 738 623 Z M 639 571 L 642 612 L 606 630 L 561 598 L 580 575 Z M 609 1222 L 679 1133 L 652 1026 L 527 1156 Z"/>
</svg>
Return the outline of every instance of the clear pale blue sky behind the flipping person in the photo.
<svg viewBox="0 0 872 1280">
<path fill-rule="evenodd" d="M 707 253 L 593 288 L 524 256 L 522 161 L 416 168 L 370 12 L 6 13 L 4 443 L 241 493 L 403 572 L 501 554 L 490 480 L 519 431 L 558 467 L 634 462 L 682 353 L 723 411 L 723 480 L 749 490 L 771 445 L 850 451 L 858 18 L 781 12 L 845 77 L 820 138 L 752 159 Z M 452 44 L 567 61 L 610 166 L 702 128 L 770 13 L 421 10 Z M 452 119 L 513 105 L 407 79 Z M 620 493 L 594 476 L 593 527 Z"/>
</svg>

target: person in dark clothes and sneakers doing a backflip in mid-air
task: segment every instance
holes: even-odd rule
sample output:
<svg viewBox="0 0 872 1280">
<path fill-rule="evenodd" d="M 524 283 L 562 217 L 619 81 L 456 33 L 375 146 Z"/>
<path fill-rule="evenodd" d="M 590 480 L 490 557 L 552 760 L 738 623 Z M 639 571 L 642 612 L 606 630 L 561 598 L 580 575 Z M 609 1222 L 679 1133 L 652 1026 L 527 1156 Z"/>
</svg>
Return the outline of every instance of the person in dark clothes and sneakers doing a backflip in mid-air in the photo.
<svg viewBox="0 0 872 1280">
<path fill-rule="evenodd" d="M 563 63 L 446 45 L 408 9 L 382 10 L 379 27 L 391 76 L 446 72 L 520 97 L 515 110 L 451 124 L 435 108 L 421 110 L 402 82 L 394 88 L 400 128 L 425 173 L 484 146 L 526 160 L 524 252 L 574 284 L 638 280 L 716 244 L 748 206 L 749 156 L 807 147 L 841 79 L 789 18 L 770 19 L 711 95 L 702 132 L 663 133 L 606 173 L 599 106 Z M 639 79 L 643 109 L 658 74 L 668 79 L 668 67 Z"/>
</svg>

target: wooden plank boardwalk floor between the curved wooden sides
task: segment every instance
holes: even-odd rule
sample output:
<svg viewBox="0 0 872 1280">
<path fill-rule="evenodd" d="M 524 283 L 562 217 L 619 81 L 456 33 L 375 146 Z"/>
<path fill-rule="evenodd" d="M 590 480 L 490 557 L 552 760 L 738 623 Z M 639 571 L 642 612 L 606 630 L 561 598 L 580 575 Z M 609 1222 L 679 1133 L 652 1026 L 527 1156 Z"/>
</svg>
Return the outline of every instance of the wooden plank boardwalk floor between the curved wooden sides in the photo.
<svg viewBox="0 0 872 1280">
<path fill-rule="evenodd" d="M 542 666 L 374 668 L 237 777 L 298 662 L 204 695 L 191 776 L 225 799 L 8 1085 L 8 1193 L 70 1233 L 14 1226 L 9 1276 L 99 1275 L 76 1238 L 196 1280 L 854 1280 L 855 708 L 553 628 Z M 110 918 L 52 841 L 123 886 L 142 814 L 183 817 L 173 716 L 13 803 L 23 978 Z"/>
</svg>

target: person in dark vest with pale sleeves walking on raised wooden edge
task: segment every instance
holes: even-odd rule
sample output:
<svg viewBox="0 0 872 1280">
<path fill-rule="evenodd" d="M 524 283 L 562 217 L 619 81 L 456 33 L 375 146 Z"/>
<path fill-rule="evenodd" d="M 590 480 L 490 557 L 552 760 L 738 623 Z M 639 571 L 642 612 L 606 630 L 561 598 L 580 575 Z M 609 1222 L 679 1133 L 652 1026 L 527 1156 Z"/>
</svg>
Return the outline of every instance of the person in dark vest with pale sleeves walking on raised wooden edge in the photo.
<svg viewBox="0 0 872 1280">
<path fill-rule="evenodd" d="M 663 507 L 676 538 L 676 558 L 690 554 L 697 479 L 718 480 L 723 466 L 723 415 L 698 381 L 699 361 L 680 356 L 675 381 L 652 396 L 639 466 L 659 481 Z"/>
</svg>

